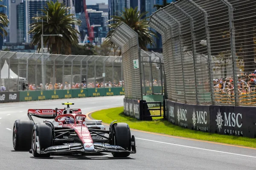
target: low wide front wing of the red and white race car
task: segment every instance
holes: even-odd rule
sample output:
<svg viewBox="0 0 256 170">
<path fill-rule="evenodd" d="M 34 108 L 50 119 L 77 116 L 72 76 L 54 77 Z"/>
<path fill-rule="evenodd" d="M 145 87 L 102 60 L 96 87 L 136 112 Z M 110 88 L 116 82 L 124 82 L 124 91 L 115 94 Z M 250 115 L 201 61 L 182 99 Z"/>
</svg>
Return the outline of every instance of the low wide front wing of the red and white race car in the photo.
<svg viewBox="0 0 256 170">
<path fill-rule="evenodd" d="M 131 150 L 128 148 L 123 148 L 117 145 L 110 145 L 104 143 L 93 143 L 94 150 L 85 150 L 81 143 L 70 143 L 58 146 L 51 146 L 46 148 L 45 150 L 41 150 L 40 154 L 45 153 L 54 153 L 54 154 L 64 154 L 64 153 L 100 153 L 100 152 L 109 152 L 109 153 L 117 153 L 117 152 L 128 152 L 128 153 L 136 153 L 136 144 L 135 137 L 131 137 Z"/>
</svg>

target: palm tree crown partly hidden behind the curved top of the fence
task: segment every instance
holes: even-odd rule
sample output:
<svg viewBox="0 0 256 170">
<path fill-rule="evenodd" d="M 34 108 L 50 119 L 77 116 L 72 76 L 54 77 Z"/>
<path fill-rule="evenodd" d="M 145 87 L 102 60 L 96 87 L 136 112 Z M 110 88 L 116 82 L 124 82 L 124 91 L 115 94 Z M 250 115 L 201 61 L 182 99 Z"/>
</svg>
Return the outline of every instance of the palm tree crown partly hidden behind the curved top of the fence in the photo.
<svg viewBox="0 0 256 170">
<path fill-rule="evenodd" d="M 145 17 L 145 15 L 148 13 L 143 12 L 140 14 L 140 11 L 137 10 L 138 7 L 136 8 L 125 8 L 125 11 L 121 12 L 121 16 L 111 16 L 112 19 L 109 20 L 113 23 L 109 25 L 109 28 L 111 29 L 108 31 L 106 41 L 112 45 L 114 48 L 116 48 L 115 45 L 110 41 L 110 37 L 113 34 L 114 30 L 116 27 L 124 22 L 128 26 L 130 26 L 134 31 L 137 32 L 139 36 L 139 46 L 141 49 L 147 51 L 147 45 L 153 45 L 154 39 L 153 36 L 157 37 L 157 35 L 154 33 L 154 31 L 151 31 L 148 26 L 148 18 Z"/>
</svg>

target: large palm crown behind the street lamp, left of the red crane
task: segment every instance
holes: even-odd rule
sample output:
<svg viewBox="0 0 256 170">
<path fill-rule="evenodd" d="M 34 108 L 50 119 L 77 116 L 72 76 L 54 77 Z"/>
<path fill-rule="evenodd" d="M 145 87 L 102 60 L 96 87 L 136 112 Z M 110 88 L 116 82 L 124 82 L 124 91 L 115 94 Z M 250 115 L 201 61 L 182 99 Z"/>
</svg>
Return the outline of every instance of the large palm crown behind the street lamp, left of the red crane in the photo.
<svg viewBox="0 0 256 170">
<path fill-rule="evenodd" d="M 80 20 L 73 18 L 73 14 L 69 14 L 70 7 L 66 7 L 63 3 L 47 2 L 47 7 L 41 10 L 44 16 L 33 17 L 35 23 L 30 24 L 29 34 L 34 34 L 31 45 L 38 45 L 38 51 L 41 49 L 42 26 L 44 34 L 62 34 L 59 36 L 45 36 L 44 45 L 51 48 L 52 54 L 60 54 L 61 47 L 65 49 L 65 54 L 71 54 L 71 46 L 78 44 L 79 32 L 73 25 L 81 25 Z M 48 15 L 48 16 L 47 16 Z M 41 22 L 43 19 L 43 23 Z M 36 22 L 38 20 L 38 22 Z M 41 21 L 40 21 L 41 20 Z M 39 22 L 40 21 L 40 22 Z"/>
</svg>

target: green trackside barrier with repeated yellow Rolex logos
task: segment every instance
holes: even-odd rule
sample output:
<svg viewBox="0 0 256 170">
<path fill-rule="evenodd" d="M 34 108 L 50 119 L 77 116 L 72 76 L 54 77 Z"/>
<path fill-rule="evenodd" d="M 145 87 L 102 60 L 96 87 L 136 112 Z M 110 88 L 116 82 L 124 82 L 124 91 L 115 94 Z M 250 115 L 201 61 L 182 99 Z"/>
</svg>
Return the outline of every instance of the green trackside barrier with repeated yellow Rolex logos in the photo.
<svg viewBox="0 0 256 170">
<path fill-rule="evenodd" d="M 8 92 L 10 93 L 10 92 Z M 20 91 L 15 92 L 19 101 L 35 101 L 49 99 L 69 99 L 79 97 L 95 97 L 95 96 L 117 96 L 124 95 L 124 88 L 81 88 L 70 90 L 45 90 L 45 91 Z M 4 93 L 0 93 L 2 95 Z"/>
</svg>

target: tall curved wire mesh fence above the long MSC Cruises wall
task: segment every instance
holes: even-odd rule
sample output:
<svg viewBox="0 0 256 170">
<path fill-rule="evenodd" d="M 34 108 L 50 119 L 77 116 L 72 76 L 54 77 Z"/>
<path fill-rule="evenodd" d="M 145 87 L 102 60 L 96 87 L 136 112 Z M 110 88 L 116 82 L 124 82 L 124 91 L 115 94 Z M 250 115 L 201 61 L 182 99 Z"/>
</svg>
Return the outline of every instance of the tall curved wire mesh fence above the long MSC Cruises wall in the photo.
<svg viewBox="0 0 256 170">
<path fill-rule="evenodd" d="M 169 100 L 256 105 L 256 1 L 179 0 L 153 13 Z"/>
</svg>

